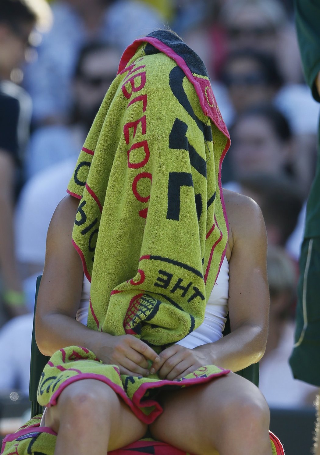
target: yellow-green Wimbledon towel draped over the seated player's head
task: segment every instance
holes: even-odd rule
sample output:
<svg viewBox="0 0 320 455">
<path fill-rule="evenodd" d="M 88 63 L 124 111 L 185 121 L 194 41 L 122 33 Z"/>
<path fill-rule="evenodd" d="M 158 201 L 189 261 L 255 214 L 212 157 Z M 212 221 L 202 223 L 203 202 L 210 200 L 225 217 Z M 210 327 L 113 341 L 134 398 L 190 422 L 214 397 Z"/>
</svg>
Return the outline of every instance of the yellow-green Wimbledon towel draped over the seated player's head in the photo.
<svg viewBox="0 0 320 455">
<path fill-rule="evenodd" d="M 199 57 L 164 30 L 129 46 L 68 186 L 88 327 L 159 351 L 202 323 L 228 238 L 228 147 Z"/>
</svg>

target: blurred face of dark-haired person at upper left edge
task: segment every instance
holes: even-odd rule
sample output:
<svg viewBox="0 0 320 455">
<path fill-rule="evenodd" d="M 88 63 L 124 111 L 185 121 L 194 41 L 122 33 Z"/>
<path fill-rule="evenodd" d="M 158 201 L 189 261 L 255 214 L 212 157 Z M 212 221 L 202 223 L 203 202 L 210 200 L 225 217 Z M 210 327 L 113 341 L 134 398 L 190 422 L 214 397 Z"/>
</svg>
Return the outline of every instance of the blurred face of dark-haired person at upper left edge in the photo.
<svg viewBox="0 0 320 455">
<path fill-rule="evenodd" d="M 10 77 L 13 69 L 25 61 L 25 50 L 29 45 L 29 35 L 33 23 L 15 25 L 0 24 L 0 72 L 5 78 Z"/>
</svg>

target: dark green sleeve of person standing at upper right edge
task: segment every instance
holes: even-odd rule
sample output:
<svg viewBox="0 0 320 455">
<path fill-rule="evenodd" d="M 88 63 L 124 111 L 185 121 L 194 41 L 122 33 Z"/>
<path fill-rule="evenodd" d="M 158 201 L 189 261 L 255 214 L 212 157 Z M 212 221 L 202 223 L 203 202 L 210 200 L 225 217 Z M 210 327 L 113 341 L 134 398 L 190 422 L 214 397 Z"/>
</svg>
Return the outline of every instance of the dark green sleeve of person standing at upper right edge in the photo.
<svg viewBox="0 0 320 455">
<path fill-rule="evenodd" d="M 295 25 L 305 79 L 320 101 L 315 86 L 320 71 L 320 0 L 295 0 Z"/>
</svg>

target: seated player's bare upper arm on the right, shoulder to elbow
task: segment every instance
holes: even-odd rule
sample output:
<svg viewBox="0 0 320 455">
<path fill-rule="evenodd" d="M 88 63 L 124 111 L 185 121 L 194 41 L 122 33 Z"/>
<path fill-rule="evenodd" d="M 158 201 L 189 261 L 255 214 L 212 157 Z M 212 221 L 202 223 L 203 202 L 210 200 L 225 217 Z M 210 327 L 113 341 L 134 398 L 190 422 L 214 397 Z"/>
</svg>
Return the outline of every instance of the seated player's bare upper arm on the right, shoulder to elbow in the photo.
<svg viewBox="0 0 320 455">
<path fill-rule="evenodd" d="M 226 206 L 233 238 L 229 261 L 231 330 L 250 324 L 267 334 L 267 236 L 262 212 L 256 202 L 238 194 Z"/>
</svg>

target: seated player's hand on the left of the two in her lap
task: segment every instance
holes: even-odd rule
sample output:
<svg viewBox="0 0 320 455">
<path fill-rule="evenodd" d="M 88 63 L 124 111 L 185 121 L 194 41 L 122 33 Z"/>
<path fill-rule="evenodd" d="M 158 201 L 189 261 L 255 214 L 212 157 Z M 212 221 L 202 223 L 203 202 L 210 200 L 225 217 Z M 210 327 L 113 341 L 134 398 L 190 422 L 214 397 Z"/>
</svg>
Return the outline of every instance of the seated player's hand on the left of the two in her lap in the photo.
<svg viewBox="0 0 320 455">
<path fill-rule="evenodd" d="M 103 363 L 117 365 L 120 368 L 120 374 L 148 376 L 148 360 L 152 363 L 160 362 L 158 354 L 133 335 L 101 335 L 101 344 L 95 354 Z"/>
</svg>

